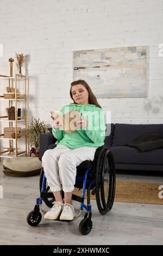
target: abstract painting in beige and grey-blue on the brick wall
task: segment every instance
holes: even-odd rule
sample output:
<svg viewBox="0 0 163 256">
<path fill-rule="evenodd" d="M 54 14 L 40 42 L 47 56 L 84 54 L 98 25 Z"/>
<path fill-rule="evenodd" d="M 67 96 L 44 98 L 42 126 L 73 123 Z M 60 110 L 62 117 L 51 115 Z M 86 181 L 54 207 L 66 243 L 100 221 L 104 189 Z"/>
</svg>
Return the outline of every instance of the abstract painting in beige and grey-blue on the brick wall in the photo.
<svg viewBox="0 0 163 256">
<path fill-rule="evenodd" d="M 85 80 L 96 97 L 146 97 L 146 46 L 73 52 L 73 80 Z"/>
</svg>

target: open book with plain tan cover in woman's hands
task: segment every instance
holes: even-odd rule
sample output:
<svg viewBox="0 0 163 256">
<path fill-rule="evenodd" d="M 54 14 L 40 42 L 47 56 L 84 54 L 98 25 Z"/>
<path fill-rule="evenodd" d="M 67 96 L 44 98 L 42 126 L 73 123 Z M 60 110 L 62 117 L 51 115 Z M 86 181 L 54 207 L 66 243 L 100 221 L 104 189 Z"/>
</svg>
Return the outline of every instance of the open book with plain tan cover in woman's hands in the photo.
<svg viewBox="0 0 163 256">
<path fill-rule="evenodd" d="M 61 130 L 71 133 L 77 130 L 76 123 L 81 120 L 80 113 L 77 110 L 66 112 L 65 114 L 59 114 L 51 111 L 52 118 L 55 121 L 59 121 L 61 124 Z"/>
</svg>

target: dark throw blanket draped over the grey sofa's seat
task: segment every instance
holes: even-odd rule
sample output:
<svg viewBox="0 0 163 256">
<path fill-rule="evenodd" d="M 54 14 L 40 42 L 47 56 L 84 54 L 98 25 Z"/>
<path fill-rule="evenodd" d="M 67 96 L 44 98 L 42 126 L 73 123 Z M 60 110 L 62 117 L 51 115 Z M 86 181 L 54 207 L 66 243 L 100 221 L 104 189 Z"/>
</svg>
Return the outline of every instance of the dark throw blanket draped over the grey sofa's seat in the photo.
<svg viewBox="0 0 163 256">
<path fill-rule="evenodd" d="M 125 144 L 128 147 L 139 149 L 141 152 L 163 148 L 163 138 L 160 130 L 153 130 L 135 138 Z"/>
</svg>

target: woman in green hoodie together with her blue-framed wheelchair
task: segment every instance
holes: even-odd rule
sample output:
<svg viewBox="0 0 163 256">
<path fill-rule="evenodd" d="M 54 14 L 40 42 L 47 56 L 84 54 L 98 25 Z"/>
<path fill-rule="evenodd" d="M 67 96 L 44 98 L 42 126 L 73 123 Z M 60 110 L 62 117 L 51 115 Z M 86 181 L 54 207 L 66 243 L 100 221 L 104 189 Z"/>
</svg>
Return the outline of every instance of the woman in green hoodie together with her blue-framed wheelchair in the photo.
<svg viewBox="0 0 163 256">
<path fill-rule="evenodd" d="M 96 194 L 99 212 L 104 215 L 110 211 L 115 195 L 115 167 L 111 152 L 104 147 L 105 114 L 91 88 L 84 80 L 74 81 L 71 83 L 70 96 L 73 103 L 62 107 L 60 112 L 64 114 L 68 111 L 78 110 L 80 121 L 74 124 L 76 129 L 69 133 L 62 129 L 59 120 L 53 120 L 52 133 L 57 139 L 56 147 L 46 150 L 43 154 L 42 167 L 45 175 L 42 171 L 43 174 L 41 173 L 40 176 L 41 196 L 37 198 L 34 210 L 29 212 L 27 222 L 33 226 L 39 224 L 41 221 L 40 209 L 46 219 L 74 221 L 85 208 L 87 213 L 80 222 L 79 230 L 86 235 L 92 228 L 90 190 L 92 190 L 92 194 Z M 80 166 L 83 163 L 86 165 L 81 172 Z M 78 177 L 79 170 L 80 175 L 82 173 L 80 177 Z M 87 178 L 89 179 L 87 180 Z M 74 186 L 83 188 L 82 197 L 72 194 Z M 53 194 L 46 193 L 49 188 Z M 87 206 L 84 204 L 85 189 L 87 190 Z M 53 199 L 49 201 L 45 194 L 52 194 L 51 198 L 53 197 Z M 73 196 L 75 197 L 73 198 Z M 51 210 L 47 212 L 42 210 L 42 199 L 46 205 L 51 207 Z M 76 217 L 72 199 L 81 203 L 80 212 Z"/>
</svg>

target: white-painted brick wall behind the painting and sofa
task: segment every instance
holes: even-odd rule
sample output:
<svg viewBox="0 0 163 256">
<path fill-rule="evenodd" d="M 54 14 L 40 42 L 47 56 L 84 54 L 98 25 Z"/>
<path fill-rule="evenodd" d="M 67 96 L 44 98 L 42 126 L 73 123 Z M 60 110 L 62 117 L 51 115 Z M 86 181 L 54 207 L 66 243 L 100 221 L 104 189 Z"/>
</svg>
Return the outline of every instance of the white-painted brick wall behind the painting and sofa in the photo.
<svg viewBox="0 0 163 256">
<path fill-rule="evenodd" d="M 147 98 L 98 102 L 113 123 L 163 123 L 162 0 L 0 0 L 0 8 L 0 73 L 15 52 L 30 53 L 28 117 L 50 121 L 50 110 L 72 102 L 73 51 L 147 45 Z"/>
</svg>

